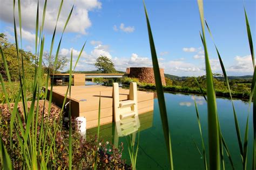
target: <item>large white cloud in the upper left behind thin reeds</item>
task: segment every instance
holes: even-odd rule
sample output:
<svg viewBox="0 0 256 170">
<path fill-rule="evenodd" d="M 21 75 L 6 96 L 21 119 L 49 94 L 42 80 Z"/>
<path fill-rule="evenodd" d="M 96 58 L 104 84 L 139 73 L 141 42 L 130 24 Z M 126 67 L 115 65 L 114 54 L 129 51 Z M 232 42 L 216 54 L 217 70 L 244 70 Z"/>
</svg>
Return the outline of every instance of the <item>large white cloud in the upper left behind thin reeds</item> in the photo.
<svg viewBox="0 0 256 170">
<path fill-rule="evenodd" d="M 63 29 L 66 18 L 69 16 L 69 12 L 72 8 L 73 1 L 65 1 L 62 6 L 62 12 L 60 13 L 57 31 Z M 39 2 L 39 16 L 42 16 L 44 2 Z M 72 15 L 69 20 L 69 24 L 66 27 L 67 32 L 78 32 L 81 34 L 86 34 L 86 29 L 91 26 L 91 20 L 89 18 L 89 11 L 95 9 L 100 9 L 102 4 L 98 0 L 77 0 L 75 2 L 75 8 L 73 9 Z M 16 5 L 17 8 L 17 5 Z M 49 1 L 47 4 L 47 9 L 45 13 L 45 24 L 44 29 L 52 32 L 55 24 L 59 8 L 59 2 Z M 24 0 L 21 1 L 22 9 L 22 26 L 25 30 L 35 30 L 36 23 L 36 10 L 37 1 Z M 16 10 L 17 15 L 18 10 Z M 12 1 L 1 2 L 0 18 L 4 22 L 13 22 L 13 11 L 12 11 Z M 16 16 L 18 18 L 18 16 Z M 42 19 L 40 19 L 40 22 Z"/>
</svg>

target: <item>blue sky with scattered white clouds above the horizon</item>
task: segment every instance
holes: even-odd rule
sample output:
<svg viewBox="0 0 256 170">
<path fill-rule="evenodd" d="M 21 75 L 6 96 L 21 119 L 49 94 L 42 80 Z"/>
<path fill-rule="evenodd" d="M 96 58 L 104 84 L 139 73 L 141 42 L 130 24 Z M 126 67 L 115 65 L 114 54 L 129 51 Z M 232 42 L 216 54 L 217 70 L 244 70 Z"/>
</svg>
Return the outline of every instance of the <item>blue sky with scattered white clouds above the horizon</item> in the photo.
<svg viewBox="0 0 256 170">
<path fill-rule="evenodd" d="M 158 53 L 160 67 L 165 73 L 192 76 L 203 75 L 204 50 L 199 31 L 200 20 L 196 0 L 145 0 Z M 51 37 L 56 24 L 59 1 L 48 1 L 44 36 L 45 51 L 50 50 Z M 74 1 L 64 1 L 57 24 L 54 51 L 60 33 Z M 256 2 L 244 1 L 255 41 Z M 205 18 L 217 44 L 228 75 L 252 75 L 253 65 L 248 46 L 242 0 L 205 0 Z M 44 1 L 39 2 L 42 17 Z M 35 25 L 37 1 L 23 0 L 23 48 L 35 52 Z M 17 10 L 16 10 L 17 13 Z M 16 17 L 18 18 L 18 17 Z M 17 23 L 18 25 L 18 20 Z M 14 42 L 12 1 L 1 0 L 0 32 Z M 211 66 L 221 73 L 217 54 L 207 34 Z M 76 0 L 75 8 L 64 33 L 60 55 L 75 58 L 87 40 L 77 70 L 95 70 L 93 63 L 99 55 L 112 59 L 118 70 L 126 67 L 151 67 L 151 53 L 142 1 Z M 68 68 L 65 68 L 68 69 Z"/>
</svg>

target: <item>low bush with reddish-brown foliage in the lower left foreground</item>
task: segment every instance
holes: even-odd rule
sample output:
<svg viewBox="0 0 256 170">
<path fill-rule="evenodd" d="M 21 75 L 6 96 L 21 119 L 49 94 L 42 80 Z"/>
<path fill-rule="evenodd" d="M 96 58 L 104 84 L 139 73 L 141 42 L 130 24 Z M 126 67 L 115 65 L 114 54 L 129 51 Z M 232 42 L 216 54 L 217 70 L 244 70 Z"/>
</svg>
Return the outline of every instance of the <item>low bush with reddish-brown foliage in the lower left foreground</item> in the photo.
<svg viewBox="0 0 256 170">
<path fill-rule="evenodd" d="M 22 114 L 21 108 L 18 108 L 19 116 L 23 123 L 23 128 L 25 128 L 25 118 Z M 18 144 L 20 139 L 17 136 L 17 132 L 21 134 L 21 130 L 19 128 L 15 128 L 13 130 L 12 135 L 12 146 L 10 147 L 10 119 L 11 112 L 4 105 L 0 107 L 0 133 L 3 140 L 3 143 L 6 147 L 6 150 L 10 154 L 10 158 L 12 160 L 12 164 L 15 169 L 21 169 L 23 165 L 23 157 L 22 157 L 22 148 Z M 43 116 L 43 108 L 39 107 L 38 114 L 38 124 L 41 124 L 42 116 Z M 54 141 L 55 145 L 52 146 L 52 154 L 50 154 L 48 168 L 61 168 L 69 166 L 69 131 L 66 129 L 61 123 L 57 124 L 56 120 L 59 118 L 60 110 L 55 108 L 51 108 L 50 115 L 44 115 L 44 123 L 49 123 L 48 130 L 53 131 L 55 126 L 58 126 L 56 139 Z M 34 126 L 36 124 L 34 123 Z M 35 126 L 36 127 L 36 126 Z M 39 131 L 40 126 L 37 126 L 37 139 L 39 139 Z M 72 129 L 75 129 L 75 121 L 72 120 Z M 43 131 L 45 131 L 45 126 Z M 50 147 L 51 137 L 45 138 L 46 147 Z M 86 141 L 80 134 L 73 130 L 72 131 L 72 167 L 74 169 L 86 168 L 92 169 L 93 164 L 95 162 L 95 154 L 98 154 L 97 159 L 97 168 L 98 169 L 124 169 L 125 160 L 122 159 L 122 151 L 123 144 L 118 148 L 114 148 L 112 144 L 108 141 L 104 143 L 104 141 L 100 141 L 98 152 L 97 151 L 97 137 L 90 137 L 88 141 Z M 39 145 L 38 140 L 36 145 Z M 42 154 L 43 152 L 43 143 L 40 144 L 40 149 L 38 153 Z M 46 155 L 46 153 L 45 153 Z M 0 167 L 2 167 L 0 163 Z"/>
</svg>

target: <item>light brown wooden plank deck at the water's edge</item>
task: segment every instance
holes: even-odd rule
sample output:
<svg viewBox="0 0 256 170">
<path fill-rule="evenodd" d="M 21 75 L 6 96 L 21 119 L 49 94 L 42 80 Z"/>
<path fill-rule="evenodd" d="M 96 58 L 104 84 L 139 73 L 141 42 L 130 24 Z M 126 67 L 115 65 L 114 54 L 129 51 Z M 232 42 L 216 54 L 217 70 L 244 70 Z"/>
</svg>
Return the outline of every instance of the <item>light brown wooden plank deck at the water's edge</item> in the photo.
<svg viewBox="0 0 256 170">
<path fill-rule="evenodd" d="M 52 102 L 62 107 L 66 86 L 53 87 Z M 50 88 L 49 88 L 50 89 Z M 50 90 L 49 90 L 50 91 Z M 128 100 L 129 89 L 119 89 L 120 100 Z M 49 93 L 48 93 L 49 94 Z M 98 125 L 99 94 L 100 104 L 100 125 L 113 122 L 113 98 L 112 87 L 105 86 L 72 86 L 71 87 L 71 112 L 73 117 L 86 117 L 86 129 Z M 153 93 L 138 91 L 139 114 L 153 110 Z M 48 96 L 49 98 L 49 96 Z M 69 101 L 69 96 L 67 101 Z"/>
</svg>

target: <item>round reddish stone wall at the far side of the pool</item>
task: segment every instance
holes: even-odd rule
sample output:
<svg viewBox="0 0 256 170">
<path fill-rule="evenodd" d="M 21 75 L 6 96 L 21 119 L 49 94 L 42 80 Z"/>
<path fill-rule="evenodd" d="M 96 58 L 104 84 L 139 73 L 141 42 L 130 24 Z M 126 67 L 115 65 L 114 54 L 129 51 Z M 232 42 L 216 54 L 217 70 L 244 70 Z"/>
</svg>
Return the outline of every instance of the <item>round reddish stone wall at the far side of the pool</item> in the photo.
<svg viewBox="0 0 256 170">
<path fill-rule="evenodd" d="M 140 82 L 155 84 L 154 71 L 152 67 L 130 67 L 126 68 L 126 73 L 129 74 L 129 77 L 139 79 Z M 163 68 L 160 68 L 160 76 L 163 86 L 166 86 Z"/>
</svg>

